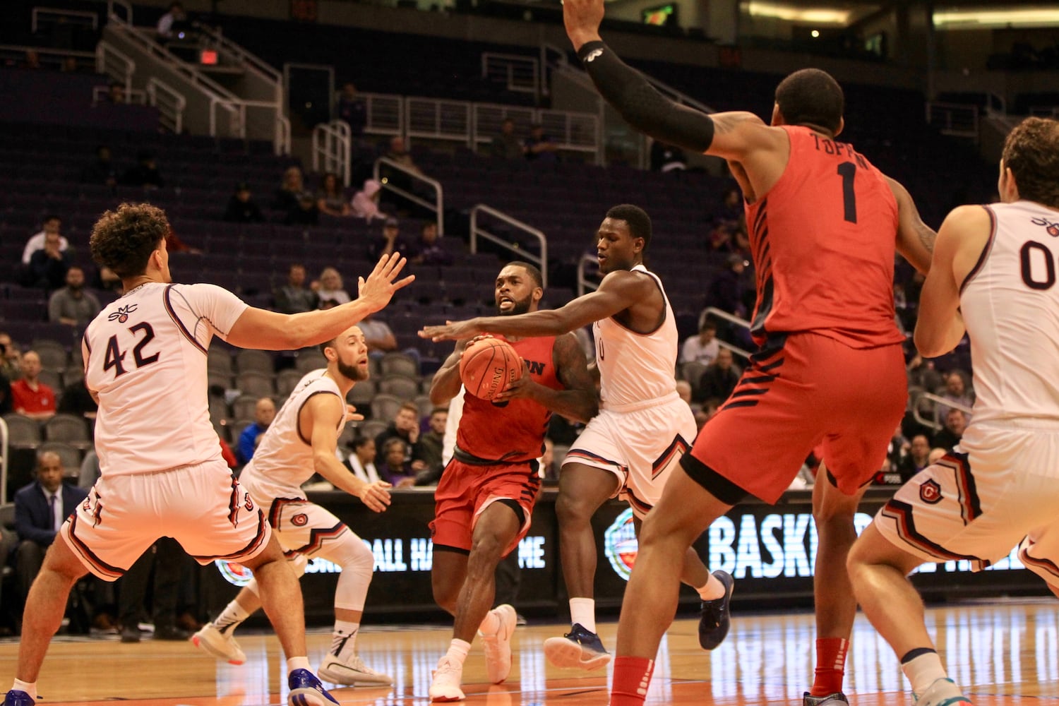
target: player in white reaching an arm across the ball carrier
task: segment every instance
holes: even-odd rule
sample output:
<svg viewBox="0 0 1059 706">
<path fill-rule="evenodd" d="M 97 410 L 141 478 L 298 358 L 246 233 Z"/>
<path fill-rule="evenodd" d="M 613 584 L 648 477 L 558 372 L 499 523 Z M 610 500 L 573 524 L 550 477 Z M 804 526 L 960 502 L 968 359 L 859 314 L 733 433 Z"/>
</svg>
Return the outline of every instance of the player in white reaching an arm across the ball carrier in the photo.
<svg viewBox="0 0 1059 706">
<path fill-rule="evenodd" d="M 622 496 L 639 531 L 695 439 L 695 417 L 674 378 L 679 341 L 672 309 L 661 280 L 644 267 L 650 238 L 651 221 L 642 209 L 614 206 L 596 233 L 605 275 L 596 291 L 559 309 L 428 326 L 420 333 L 435 341 L 479 333 L 556 336 L 593 324 L 600 412 L 567 454 L 555 504 L 573 623 L 566 636 L 544 642 L 545 655 L 559 667 L 597 669 L 610 662 L 595 626 L 592 515 L 608 499 Z M 681 578 L 702 597 L 699 640 L 713 649 L 728 633 L 732 577 L 711 575 L 689 547 Z"/>
</svg>

